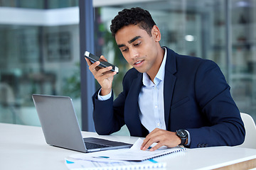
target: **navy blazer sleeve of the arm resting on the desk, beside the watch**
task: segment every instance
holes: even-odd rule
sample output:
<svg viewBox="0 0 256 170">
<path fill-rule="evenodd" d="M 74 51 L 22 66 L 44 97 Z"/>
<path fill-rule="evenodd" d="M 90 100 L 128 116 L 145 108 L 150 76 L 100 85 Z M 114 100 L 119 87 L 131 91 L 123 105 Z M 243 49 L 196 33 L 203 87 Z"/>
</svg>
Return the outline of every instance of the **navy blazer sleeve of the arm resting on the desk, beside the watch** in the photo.
<svg viewBox="0 0 256 170">
<path fill-rule="evenodd" d="M 245 128 L 240 111 L 230 94 L 215 62 L 205 60 L 196 72 L 196 101 L 210 126 L 187 129 L 191 135 L 190 147 L 240 145 L 245 139 Z"/>
</svg>

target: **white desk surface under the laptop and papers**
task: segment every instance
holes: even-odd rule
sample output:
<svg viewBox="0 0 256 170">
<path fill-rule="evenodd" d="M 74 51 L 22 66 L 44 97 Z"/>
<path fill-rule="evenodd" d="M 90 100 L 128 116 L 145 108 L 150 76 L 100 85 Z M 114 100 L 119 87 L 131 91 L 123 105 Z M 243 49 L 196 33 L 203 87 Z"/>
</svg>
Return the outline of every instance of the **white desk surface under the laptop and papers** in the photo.
<svg viewBox="0 0 256 170">
<path fill-rule="evenodd" d="M 82 135 L 129 143 L 137 140 L 137 137 L 100 136 L 94 132 L 82 132 Z M 67 169 L 64 158 L 74 153 L 79 152 L 47 145 L 39 127 L 0 123 L 0 169 Z M 256 167 L 256 149 L 186 149 L 155 160 L 166 162 L 166 169 L 218 169 L 223 166 L 225 169 L 251 169 Z"/>
</svg>

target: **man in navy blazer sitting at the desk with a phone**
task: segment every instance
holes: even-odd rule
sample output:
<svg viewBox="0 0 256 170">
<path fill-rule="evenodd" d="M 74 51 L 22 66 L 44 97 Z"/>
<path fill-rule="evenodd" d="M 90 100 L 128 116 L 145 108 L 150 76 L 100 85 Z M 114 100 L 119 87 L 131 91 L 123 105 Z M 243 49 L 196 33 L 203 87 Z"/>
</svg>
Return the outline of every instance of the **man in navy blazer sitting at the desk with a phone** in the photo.
<svg viewBox="0 0 256 170">
<path fill-rule="evenodd" d="M 125 60 L 134 68 L 124 76 L 123 91 L 113 101 L 116 72 L 87 60 L 101 86 L 92 96 L 98 134 L 110 135 L 126 124 L 130 135 L 146 137 L 141 149 L 158 143 L 151 151 L 163 145 L 242 144 L 245 128 L 240 111 L 217 64 L 161 47 L 160 30 L 142 8 L 120 11 L 110 29 Z"/>
</svg>

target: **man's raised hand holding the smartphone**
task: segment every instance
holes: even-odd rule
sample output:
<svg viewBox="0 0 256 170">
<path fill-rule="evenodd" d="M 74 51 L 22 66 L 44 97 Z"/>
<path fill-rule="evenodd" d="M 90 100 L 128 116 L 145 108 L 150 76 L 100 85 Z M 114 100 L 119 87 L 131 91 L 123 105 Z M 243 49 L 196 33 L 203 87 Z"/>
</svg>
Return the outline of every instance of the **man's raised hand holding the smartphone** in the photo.
<svg viewBox="0 0 256 170">
<path fill-rule="evenodd" d="M 102 60 L 105 60 L 105 57 L 103 55 L 100 56 Z M 90 62 L 87 58 L 85 58 L 87 64 L 89 65 L 90 72 L 92 72 L 95 79 L 97 79 L 98 83 L 102 87 L 100 95 L 105 96 L 107 94 L 110 94 L 112 89 L 112 81 L 114 79 L 114 75 L 117 74 L 117 72 L 110 71 L 112 67 L 98 67 L 100 65 L 100 62 L 97 61 L 95 63 Z"/>
</svg>

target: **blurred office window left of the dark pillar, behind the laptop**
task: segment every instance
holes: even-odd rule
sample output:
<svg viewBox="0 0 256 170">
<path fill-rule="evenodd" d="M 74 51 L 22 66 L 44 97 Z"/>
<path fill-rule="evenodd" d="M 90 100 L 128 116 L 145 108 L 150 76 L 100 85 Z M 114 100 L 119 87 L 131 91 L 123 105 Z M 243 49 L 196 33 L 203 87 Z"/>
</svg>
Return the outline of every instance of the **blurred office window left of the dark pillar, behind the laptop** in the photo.
<svg viewBox="0 0 256 170">
<path fill-rule="evenodd" d="M 0 122 L 40 125 L 32 94 L 70 96 L 81 121 L 78 6 L 49 12 L 26 8 L 28 1 L 0 2 L 14 7 L 0 7 L 13 16 L 0 18 Z"/>
</svg>

